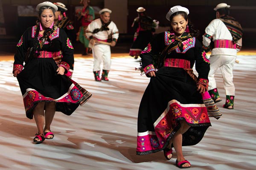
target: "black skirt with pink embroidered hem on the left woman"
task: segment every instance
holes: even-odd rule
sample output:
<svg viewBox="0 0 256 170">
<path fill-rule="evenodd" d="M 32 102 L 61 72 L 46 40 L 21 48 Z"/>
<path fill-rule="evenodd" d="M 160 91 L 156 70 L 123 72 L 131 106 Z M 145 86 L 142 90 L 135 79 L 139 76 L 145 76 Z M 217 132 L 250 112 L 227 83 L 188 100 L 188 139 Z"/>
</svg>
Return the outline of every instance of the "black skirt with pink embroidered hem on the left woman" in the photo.
<svg viewBox="0 0 256 170">
<path fill-rule="evenodd" d="M 92 96 L 66 75 L 56 74 L 58 66 L 52 58 L 32 59 L 18 74 L 26 116 L 33 118 L 38 102 L 55 102 L 56 111 L 71 115 Z"/>
</svg>

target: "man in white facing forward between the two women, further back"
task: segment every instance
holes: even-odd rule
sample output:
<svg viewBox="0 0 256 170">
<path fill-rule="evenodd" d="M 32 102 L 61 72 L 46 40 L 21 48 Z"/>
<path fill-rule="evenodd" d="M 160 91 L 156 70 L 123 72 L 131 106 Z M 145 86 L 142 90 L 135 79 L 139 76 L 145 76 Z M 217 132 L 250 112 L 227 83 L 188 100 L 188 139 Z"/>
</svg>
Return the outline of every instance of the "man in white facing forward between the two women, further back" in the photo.
<svg viewBox="0 0 256 170">
<path fill-rule="evenodd" d="M 108 81 L 108 72 L 111 68 L 110 46 L 98 42 L 110 42 L 113 47 L 119 37 L 116 24 L 110 20 L 111 10 L 104 8 L 99 11 L 100 18 L 92 21 L 86 29 L 87 38 L 94 39 L 93 51 L 93 74 L 95 81 Z M 100 78 L 100 64 L 103 61 L 102 77 Z"/>
</svg>

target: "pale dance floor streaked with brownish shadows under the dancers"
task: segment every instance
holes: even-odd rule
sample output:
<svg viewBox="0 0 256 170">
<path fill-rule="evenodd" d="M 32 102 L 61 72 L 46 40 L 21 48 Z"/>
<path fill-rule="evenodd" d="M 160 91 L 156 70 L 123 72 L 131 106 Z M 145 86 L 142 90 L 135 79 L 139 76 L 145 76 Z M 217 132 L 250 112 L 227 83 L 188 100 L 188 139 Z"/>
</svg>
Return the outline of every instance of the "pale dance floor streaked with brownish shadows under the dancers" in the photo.
<svg viewBox="0 0 256 170">
<path fill-rule="evenodd" d="M 80 55 L 81 56 L 81 55 Z M 256 55 L 239 55 L 235 64 L 235 109 L 222 108 L 225 93 L 216 74 L 223 115 L 211 118 L 202 141 L 183 147 L 191 170 L 256 169 Z M 176 154 L 136 155 L 137 113 L 149 82 L 138 60 L 112 59 L 109 82 L 95 82 L 92 58 L 75 58 L 73 79 L 93 94 L 71 116 L 56 112 L 54 139 L 33 144 L 37 128 L 27 119 L 12 59 L 0 61 L 0 170 L 177 170 Z"/>
</svg>

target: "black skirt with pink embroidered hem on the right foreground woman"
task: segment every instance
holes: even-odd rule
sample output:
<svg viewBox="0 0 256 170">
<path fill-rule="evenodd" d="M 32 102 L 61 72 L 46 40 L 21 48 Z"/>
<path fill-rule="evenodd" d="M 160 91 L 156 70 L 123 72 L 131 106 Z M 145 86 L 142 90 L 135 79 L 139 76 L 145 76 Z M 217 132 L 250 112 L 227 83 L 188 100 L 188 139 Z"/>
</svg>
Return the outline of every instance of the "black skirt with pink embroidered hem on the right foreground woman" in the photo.
<svg viewBox="0 0 256 170">
<path fill-rule="evenodd" d="M 181 69 L 163 67 L 151 78 L 140 103 L 137 155 L 163 150 L 184 120 L 191 127 L 183 134 L 183 146 L 201 141 L 211 126 L 195 81 Z"/>
</svg>

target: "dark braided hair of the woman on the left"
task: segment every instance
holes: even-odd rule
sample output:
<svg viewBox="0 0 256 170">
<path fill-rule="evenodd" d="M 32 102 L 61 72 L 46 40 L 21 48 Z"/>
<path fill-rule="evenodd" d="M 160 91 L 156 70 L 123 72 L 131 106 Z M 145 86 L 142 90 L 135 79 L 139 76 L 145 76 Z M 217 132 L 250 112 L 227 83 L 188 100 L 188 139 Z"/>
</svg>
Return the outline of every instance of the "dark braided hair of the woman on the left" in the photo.
<svg viewBox="0 0 256 170">
<path fill-rule="evenodd" d="M 32 46 L 32 52 L 31 52 L 31 55 L 32 56 L 35 56 L 37 57 L 39 55 L 39 53 L 37 52 L 38 50 L 38 35 L 39 35 L 39 31 L 40 31 L 40 20 L 39 20 L 39 17 L 41 16 L 42 12 L 45 10 L 45 9 L 51 9 L 52 12 L 53 12 L 53 15 L 55 13 L 55 9 L 50 7 L 50 6 L 42 6 L 40 9 L 39 9 L 39 12 L 38 12 L 38 20 L 36 21 L 36 31 L 35 31 L 35 37 L 34 37 L 34 41 L 33 41 L 33 46 Z M 44 31 L 44 35 L 43 37 L 45 37 L 47 39 L 47 41 L 51 44 L 51 40 L 49 38 L 49 35 L 51 35 L 54 31 L 54 27 L 53 28 L 48 28 Z M 42 37 L 41 37 L 42 38 Z"/>
</svg>

